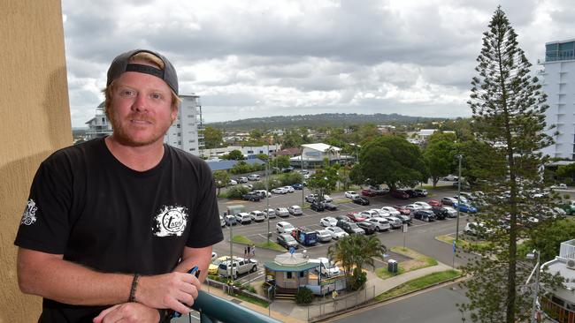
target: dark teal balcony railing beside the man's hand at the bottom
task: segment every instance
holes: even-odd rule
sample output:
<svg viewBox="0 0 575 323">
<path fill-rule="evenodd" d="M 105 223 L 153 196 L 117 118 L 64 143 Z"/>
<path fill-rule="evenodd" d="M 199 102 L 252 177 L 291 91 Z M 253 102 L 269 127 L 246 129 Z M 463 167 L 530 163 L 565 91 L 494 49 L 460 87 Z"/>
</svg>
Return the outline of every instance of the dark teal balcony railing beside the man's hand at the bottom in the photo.
<svg viewBox="0 0 575 323">
<path fill-rule="evenodd" d="M 264 314 L 252 311 L 246 307 L 228 302 L 223 298 L 213 296 L 202 290 L 196 301 L 194 301 L 194 310 L 200 313 L 201 323 L 279 323 L 277 319 L 272 319 Z"/>
</svg>

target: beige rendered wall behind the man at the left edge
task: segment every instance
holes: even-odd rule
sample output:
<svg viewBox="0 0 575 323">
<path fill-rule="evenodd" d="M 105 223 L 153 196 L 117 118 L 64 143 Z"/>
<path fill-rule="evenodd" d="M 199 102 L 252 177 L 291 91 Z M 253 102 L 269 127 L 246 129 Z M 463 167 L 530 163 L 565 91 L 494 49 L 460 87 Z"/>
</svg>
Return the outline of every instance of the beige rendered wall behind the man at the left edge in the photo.
<svg viewBox="0 0 575 323">
<path fill-rule="evenodd" d="M 59 0 L 0 0 L 0 323 L 35 322 L 40 297 L 23 295 L 14 237 L 35 170 L 72 144 Z"/>
</svg>

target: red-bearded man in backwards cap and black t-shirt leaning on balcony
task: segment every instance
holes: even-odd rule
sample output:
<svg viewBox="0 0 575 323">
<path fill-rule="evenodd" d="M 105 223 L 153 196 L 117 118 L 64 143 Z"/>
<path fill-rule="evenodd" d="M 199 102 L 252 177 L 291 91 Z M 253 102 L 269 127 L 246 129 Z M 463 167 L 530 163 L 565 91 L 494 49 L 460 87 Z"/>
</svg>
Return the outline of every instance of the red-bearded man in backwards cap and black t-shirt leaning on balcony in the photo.
<svg viewBox="0 0 575 323">
<path fill-rule="evenodd" d="M 188 313 L 223 239 L 211 170 L 163 143 L 180 102 L 173 65 L 126 52 L 103 92 L 113 134 L 42 162 L 19 226 L 19 287 L 43 297 L 40 322 Z"/>
</svg>

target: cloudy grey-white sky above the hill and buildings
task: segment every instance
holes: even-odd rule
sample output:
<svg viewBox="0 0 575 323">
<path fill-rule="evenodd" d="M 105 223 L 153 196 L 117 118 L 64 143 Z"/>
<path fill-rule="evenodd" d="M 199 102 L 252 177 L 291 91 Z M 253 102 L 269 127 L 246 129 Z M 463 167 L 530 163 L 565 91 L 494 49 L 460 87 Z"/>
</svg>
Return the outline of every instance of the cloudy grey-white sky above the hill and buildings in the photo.
<svg viewBox="0 0 575 323">
<path fill-rule="evenodd" d="M 94 116 L 111 61 L 131 49 L 167 56 L 206 123 L 471 116 L 475 60 L 500 4 L 533 71 L 545 42 L 575 38 L 572 0 L 63 0 L 72 125 Z"/>
</svg>

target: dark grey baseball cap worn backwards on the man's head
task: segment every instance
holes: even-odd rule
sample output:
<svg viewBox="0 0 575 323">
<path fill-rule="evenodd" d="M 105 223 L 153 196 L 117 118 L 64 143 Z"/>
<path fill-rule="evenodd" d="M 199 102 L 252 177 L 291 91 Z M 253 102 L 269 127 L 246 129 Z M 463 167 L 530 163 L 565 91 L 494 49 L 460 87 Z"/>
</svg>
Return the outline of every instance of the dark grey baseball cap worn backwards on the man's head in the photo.
<svg viewBox="0 0 575 323">
<path fill-rule="evenodd" d="M 129 63 L 130 57 L 142 52 L 157 56 L 157 58 L 162 60 L 165 65 L 164 70 L 160 70 L 154 66 Z M 111 82 L 118 79 L 125 71 L 137 71 L 163 79 L 165 83 L 173 89 L 173 92 L 178 94 L 178 75 L 176 74 L 176 70 L 173 68 L 173 64 L 170 63 L 165 56 L 155 51 L 148 49 L 134 49 L 114 58 L 113 62 L 111 62 L 110 68 L 108 69 L 108 80 L 106 81 L 106 86 L 110 86 Z"/>
</svg>

